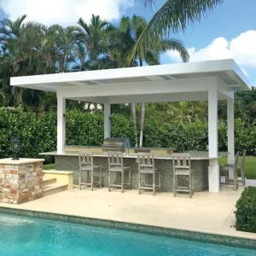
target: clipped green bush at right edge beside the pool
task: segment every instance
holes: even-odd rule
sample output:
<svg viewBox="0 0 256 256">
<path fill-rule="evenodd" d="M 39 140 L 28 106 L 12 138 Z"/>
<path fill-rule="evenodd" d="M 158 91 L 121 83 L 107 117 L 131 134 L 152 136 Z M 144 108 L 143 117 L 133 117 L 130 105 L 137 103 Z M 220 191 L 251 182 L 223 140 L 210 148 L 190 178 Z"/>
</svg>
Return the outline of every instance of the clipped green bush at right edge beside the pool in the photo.
<svg viewBox="0 0 256 256">
<path fill-rule="evenodd" d="M 236 202 L 236 230 L 256 233 L 256 187 L 247 187 Z"/>
</svg>

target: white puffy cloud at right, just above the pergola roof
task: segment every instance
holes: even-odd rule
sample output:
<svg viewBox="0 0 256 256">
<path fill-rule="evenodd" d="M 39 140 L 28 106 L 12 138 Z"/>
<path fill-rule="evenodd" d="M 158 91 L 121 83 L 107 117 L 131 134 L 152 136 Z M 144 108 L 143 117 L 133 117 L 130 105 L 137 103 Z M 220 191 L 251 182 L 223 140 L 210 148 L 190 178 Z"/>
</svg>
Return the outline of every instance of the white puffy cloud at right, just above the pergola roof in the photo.
<svg viewBox="0 0 256 256">
<path fill-rule="evenodd" d="M 256 31 L 247 31 L 233 38 L 216 38 L 205 48 L 189 48 L 189 61 L 210 61 L 233 58 L 246 72 L 245 68 L 256 67 Z M 172 61 L 181 61 L 176 51 L 166 53 Z"/>
</svg>

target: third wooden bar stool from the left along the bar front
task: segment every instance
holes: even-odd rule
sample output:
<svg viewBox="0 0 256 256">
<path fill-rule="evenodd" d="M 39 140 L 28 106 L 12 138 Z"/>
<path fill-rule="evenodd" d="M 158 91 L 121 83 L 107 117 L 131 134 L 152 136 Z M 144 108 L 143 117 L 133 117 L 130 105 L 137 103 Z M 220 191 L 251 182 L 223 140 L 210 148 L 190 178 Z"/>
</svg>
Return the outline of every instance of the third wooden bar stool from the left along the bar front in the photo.
<svg viewBox="0 0 256 256">
<path fill-rule="evenodd" d="M 159 191 L 161 192 L 161 176 L 160 171 L 159 172 L 159 184 L 155 184 L 155 173 L 157 172 L 157 169 L 154 167 L 154 154 L 150 153 L 138 153 L 138 175 L 139 175 L 139 183 L 138 183 L 138 189 L 139 189 L 139 195 L 141 195 L 141 189 L 152 189 L 153 195 L 155 195 L 155 188 L 159 188 Z M 142 187 L 141 185 L 141 176 L 144 174 L 145 176 L 145 183 Z M 153 184 L 148 185 L 146 184 L 146 175 L 150 174 L 153 176 Z"/>
</svg>

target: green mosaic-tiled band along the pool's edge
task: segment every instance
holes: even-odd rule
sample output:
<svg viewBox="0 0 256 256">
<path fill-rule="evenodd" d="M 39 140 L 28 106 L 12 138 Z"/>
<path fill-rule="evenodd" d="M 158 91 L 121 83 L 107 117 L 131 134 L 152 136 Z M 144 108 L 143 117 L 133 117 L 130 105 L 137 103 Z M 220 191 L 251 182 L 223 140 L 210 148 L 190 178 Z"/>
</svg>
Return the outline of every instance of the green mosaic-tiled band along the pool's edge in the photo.
<svg viewBox="0 0 256 256">
<path fill-rule="evenodd" d="M 133 224 L 129 222 L 121 222 L 103 218 L 88 218 L 76 215 L 67 215 L 53 212 L 38 212 L 10 207 L 0 207 L 0 213 L 29 218 L 43 218 L 71 224 L 84 224 L 113 230 L 126 230 L 154 236 L 166 236 L 188 241 L 200 241 L 230 247 L 241 247 L 256 250 L 255 239 L 243 238 L 239 236 L 212 234 L 195 230 L 179 230 L 147 224 Z"/>
</svg>

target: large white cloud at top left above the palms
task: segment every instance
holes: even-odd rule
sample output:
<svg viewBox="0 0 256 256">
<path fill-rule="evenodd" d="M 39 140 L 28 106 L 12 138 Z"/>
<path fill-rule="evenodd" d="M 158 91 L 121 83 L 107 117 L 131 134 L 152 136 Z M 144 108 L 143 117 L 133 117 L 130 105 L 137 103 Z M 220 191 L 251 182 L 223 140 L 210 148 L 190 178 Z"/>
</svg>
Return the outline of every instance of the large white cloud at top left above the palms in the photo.
<svg viewBox="0 0 256 256">
<path fill-rule="evenodd" d="M 27 15 L 27 20 L 63 26 L 74 25 L 80 17 L 89 21 L 92 14 L 116 20 L 133 4 L 131 0 L 0 0 L 0 8 L 11 20 Z"/>
</svg>

